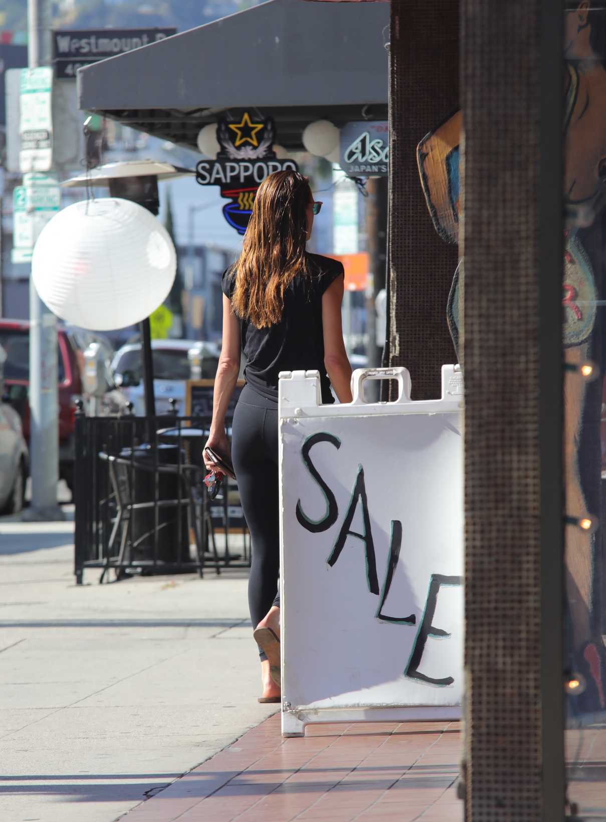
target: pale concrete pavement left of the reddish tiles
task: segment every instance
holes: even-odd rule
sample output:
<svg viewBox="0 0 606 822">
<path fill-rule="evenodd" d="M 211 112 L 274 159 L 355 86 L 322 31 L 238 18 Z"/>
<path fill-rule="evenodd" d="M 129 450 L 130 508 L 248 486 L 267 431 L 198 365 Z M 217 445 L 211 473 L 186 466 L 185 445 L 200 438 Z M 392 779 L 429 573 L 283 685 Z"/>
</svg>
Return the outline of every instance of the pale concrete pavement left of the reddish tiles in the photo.
<svg viewBox="0 0 606 822">
<path fill-rule="evenodd" d="M 275 713 L 245 571 L 76 586 L 72 531 L 0 519 L 2 822 L 113 822 Z"/>
</svg>

